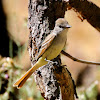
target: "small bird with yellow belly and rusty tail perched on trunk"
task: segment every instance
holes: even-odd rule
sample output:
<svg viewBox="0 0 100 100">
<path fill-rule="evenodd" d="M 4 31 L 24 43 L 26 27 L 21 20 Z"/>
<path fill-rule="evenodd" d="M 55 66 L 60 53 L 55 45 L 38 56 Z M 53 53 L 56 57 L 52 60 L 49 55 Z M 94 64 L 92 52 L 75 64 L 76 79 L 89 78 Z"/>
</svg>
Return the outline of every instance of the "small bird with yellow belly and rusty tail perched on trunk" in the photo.
<svg viewBox="0 0 100 100">
<path fill-rule="evenodd" d="M 58 18 L 55 27 L 41 44 L 38 61 L 13 86 L 20 89 L 26 80 L 41 66 L 56 58 L 64 48 L 67 40 L 68 24 L 65 18 Z"/>
</svg>

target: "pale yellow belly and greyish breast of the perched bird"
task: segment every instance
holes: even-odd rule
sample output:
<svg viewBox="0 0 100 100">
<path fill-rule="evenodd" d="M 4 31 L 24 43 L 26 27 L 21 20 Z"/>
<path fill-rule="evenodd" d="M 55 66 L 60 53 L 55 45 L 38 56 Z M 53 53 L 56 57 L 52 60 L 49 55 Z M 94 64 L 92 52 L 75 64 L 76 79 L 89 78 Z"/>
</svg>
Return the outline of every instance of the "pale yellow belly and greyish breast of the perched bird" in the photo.
<svg viewBox="0 0 100 100">
<path fill-rule="evenodd" d="M 47 60 L 56 58 L 65 46 L 67 39 L 66 34 L 67 33 L 65 32 L 63 34 L 57 35 L 57 37 L 53 40 L 51 46 L 45 51 L 42 57 L 46 58 Z"/>
</svg>

